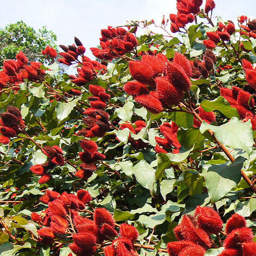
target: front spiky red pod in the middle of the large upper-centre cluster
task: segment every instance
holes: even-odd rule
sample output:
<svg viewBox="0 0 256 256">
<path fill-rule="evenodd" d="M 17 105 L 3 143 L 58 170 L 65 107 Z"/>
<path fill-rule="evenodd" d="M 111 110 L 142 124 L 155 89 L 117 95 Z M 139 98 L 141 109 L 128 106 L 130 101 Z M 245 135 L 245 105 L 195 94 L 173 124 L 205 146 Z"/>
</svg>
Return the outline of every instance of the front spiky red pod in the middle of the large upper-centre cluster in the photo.
<svg viewBox="0 0 256 256">
<path fill-rule="evenodd" d="M 164 77 L 157 77 L 155 79 L 157 83 L 158 99 L 164 106 L 177 105 L 183 98 L 183 92 L 179 91 Z"/>
</svg>

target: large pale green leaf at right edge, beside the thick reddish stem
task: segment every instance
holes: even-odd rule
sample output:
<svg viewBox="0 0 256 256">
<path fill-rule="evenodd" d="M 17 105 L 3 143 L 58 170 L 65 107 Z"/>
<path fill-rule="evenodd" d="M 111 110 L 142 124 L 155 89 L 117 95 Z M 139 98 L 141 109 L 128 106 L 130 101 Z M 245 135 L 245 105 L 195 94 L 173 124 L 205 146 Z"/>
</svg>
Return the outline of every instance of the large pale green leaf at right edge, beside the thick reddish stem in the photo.
<svg viewBox="0 0 256 256">
<path fill-rule="evenodd" d="M 241 123 L 237 117 L 232 117 L 231 120 L 221 126 L 213 126 L 203 121 L 199 128 L 202 133 L 206 130 L 212 130 L 215 137 L 226 147 L 232 149 L 243 149 L 250 154 L 253 146 L 253 133 L 251 121 Z"/>
</svg>

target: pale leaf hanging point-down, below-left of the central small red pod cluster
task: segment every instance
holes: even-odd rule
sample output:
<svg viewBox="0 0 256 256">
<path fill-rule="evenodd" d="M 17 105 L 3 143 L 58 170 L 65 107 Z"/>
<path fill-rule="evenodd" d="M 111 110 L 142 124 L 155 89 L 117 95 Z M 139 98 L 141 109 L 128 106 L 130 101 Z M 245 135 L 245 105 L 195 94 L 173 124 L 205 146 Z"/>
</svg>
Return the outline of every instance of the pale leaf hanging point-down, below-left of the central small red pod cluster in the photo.
<svg viewBox="0 0 256 256">
<path fill-rule="evenodd" d="M 145 160 L 140 160 L 135 166 L 133 166 L 135 179 L 142 187 L 148 188 L 150 191 L 153 189 L 153 184 L 155 182 L 154 172 L 155 170 L 150 167 L 150 164 Z"/>
</svg>

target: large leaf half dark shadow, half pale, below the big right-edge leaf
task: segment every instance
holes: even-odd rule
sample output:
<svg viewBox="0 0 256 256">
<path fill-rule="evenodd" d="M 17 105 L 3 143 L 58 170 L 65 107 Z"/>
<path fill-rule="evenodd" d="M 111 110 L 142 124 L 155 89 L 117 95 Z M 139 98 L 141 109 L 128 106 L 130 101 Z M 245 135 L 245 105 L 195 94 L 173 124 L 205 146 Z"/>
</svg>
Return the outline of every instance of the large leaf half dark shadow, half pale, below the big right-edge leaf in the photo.
<svg viewBox="0 0 256 256">
<path fill-rule="evenodd" d="M 245 158 L 238 157 L 235 162 L 227 164 L 205 164 L 203 176 L 205 177 L 208 194 L 212 203 L 224 197 L 241 180 L 241 169 Z"/>
</svg>

